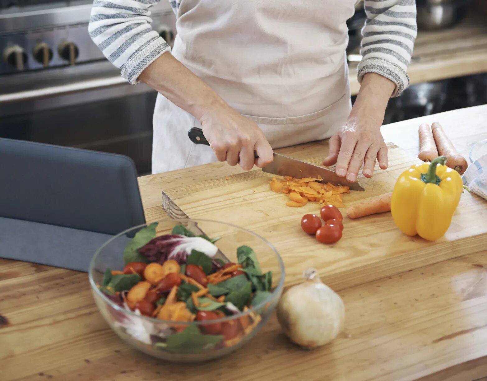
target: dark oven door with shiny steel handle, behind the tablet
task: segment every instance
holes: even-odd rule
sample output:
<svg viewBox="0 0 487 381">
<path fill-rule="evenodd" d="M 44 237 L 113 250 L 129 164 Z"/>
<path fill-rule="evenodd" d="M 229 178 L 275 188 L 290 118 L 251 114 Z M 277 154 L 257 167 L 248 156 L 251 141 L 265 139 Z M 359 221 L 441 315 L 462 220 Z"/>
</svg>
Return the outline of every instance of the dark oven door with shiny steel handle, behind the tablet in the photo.
<svg viewBox="0 0 487 381">
<path fill-rule="evenodd" d="M 147 174 L 156 95 L 107 61 L 0 76 L 0 137 L 124 154 Z"/>
</svg>

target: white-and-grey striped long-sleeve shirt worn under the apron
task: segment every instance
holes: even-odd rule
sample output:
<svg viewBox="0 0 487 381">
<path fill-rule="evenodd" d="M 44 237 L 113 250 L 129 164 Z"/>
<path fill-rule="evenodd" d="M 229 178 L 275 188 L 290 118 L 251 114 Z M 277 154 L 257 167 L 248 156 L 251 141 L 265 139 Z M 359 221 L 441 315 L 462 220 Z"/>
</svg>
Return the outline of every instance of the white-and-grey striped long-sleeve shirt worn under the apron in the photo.
<svg viewBox="0 0 487 381">
<path fill-rule="evenodd" d="M 317 0 L 319 1 L 319 0 Z M 159 0 L 94 0 L 89 32 L 121 75 L 130 83 L 157 57 L 170 51 L 169 44 L 150 26 L 150 7 Z M 177 14 L 181 0 L 169 0 Z M 416 38 L 415 0 L 365 0 L 367 21 L 362 29 L 363 58 L 358 81 L 377 73 L 396 84 L 394 96 L 408 85 L 407 66 Z"/>
</svg>

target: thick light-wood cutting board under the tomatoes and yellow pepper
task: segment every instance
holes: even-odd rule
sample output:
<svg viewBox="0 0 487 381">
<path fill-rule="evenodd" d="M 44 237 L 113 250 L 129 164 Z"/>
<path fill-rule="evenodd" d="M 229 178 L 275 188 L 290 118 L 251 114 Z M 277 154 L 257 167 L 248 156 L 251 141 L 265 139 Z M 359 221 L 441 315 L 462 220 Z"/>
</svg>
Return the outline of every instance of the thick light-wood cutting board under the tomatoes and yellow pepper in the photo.
<svg viewBox="0 0 487 381">
<path fill-rule="evenodd" d="M 388 147 L 388 170 L 377 166 L 372 179 L 359 177 L 365 191 L 344 194 L 346 207 L 392 191 L 399 174 L 418 162 L 397 146 Z M 319 165 L 326 150 L 324 143 L 311 143 L 281 153 Z M 342 289 L 487 247 L 487 202 L 466 191 L 450 229 L 436 242 L 402 234 L 390 212 L 350 220 L 342 209 L 342 239 L 323 245 L 300 228 L 303 214 L 319 215 L 319 204 L 287 207 L 287 196 L 270 190 L 272 177 L 261 170 L 243 172 L 222 163 L 165 173 L 163 208 L 175 218 L 225 221 L 260 234 L 281 254 L 287 285 L 299 282 L 306 268 L 316 267 L 329 286 Z"/>
</svg>

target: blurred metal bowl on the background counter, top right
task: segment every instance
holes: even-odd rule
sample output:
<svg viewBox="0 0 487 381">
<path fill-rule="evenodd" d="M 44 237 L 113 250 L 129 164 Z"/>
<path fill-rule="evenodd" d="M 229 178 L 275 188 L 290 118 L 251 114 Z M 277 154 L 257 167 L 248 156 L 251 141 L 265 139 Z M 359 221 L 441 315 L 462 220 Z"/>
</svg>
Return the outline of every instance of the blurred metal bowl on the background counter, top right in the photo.
<svg viewBox="0 0 487 381">
<path fill-rule="evenodd" d="M 468 0 L 417 0 L 418 29 L 445 29 L 460 22 L 467 13 Z"/>
</svg>

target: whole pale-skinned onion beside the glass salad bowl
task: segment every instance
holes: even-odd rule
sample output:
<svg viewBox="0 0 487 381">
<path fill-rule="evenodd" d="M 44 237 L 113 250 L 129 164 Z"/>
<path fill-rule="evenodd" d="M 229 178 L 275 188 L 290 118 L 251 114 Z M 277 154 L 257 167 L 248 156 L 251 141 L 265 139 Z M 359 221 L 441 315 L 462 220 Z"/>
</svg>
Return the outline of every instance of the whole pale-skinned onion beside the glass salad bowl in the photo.
<svg viewBox="0 0 487 381">
<path fill-rule="evenodd" d="M 281 297 L 277 317 L 292 342 L 314 348 L 331 342 L 343 328 L 345 306 L 315 269 L 305 271 L 305 282 L 289 288 Z"/>
</svg>

